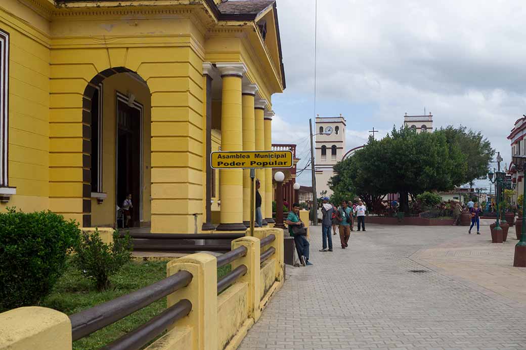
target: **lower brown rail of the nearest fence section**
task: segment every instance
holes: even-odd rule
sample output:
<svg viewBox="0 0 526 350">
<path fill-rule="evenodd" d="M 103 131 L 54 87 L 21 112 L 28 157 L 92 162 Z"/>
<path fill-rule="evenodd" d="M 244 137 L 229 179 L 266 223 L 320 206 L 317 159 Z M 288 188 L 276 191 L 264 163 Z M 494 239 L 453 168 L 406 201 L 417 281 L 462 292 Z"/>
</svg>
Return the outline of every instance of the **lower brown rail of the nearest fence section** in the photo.
<svg viewBox="0 0 526 350">
<path fill-rule="evenodd" d="M 171 324 L 187 316 L 191 309 L 192 303 L 190 303 L 190 300 L 180 300 L 180 302 L 170 306 L 144 325 L 118 338 L 115 342 L 100 348 L 100 350 L 138 350 L 163 333 Z"/>
</svg>

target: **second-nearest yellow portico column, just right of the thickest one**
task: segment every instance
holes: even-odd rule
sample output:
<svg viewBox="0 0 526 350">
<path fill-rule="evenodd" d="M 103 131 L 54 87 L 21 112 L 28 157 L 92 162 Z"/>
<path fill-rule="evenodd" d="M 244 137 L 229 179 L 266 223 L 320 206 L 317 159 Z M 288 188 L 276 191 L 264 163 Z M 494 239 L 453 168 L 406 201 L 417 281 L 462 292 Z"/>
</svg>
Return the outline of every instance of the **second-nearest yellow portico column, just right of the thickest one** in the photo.
<svg viewBox="0 0 526 350">
<path fill-rule="evenodd" d="M 256 150 L 254 98 L 258 86 L 247 84 L 242 91 L 243 150 Z M 254 185 L 255 186 L 255 185 Z M 254 213 L 254 217 L 256 214 Z M 250 227 L 250 170 L 243 170 L 243 225 Z"/>
</svg>

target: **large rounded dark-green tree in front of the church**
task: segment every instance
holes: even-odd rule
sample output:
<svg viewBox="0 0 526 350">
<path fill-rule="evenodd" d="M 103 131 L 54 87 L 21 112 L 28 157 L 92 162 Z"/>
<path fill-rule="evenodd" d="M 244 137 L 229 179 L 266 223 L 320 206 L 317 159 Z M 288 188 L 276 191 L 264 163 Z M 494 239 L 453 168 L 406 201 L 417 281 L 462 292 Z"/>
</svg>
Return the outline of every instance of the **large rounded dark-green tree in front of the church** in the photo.
<svg viewBox="0 0 526 350">
<path fill-rule="evenodd" d="M 369 208 L 387 193 L 398 192 L 401 211 L 409 212 L 409 196 L 460 186 L 466 169 L 466 155 L 448 144 L 444 133 L 393 128 L 381 140 L 369 138 L 363 149 L 336 164 L 329 186 L 336 195 L 356 193 Z"/>
</svg>

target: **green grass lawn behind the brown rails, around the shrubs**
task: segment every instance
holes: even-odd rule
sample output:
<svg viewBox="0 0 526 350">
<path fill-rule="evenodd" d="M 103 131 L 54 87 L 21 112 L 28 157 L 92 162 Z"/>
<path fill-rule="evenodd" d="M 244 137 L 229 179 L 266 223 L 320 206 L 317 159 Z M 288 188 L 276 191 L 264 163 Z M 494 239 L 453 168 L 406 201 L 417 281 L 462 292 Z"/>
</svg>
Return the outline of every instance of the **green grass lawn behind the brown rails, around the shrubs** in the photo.
<svg viewBox="0 0 526 350">
<path fill-rule="evenodd" d="M 132 261 L 110 278 L 112 287 L 102 293 L 97 292 L 90 280 L 68 264 L 65 274 L 60 277 L 52 293 L 40 306 L 53 308 L 67 315 L 75 314 L 166 278 L 166 264 L 167 261 Z M 227 274 L 230 269 L 230 265 L 219 268 L 218 278 Z M 166 309 L 166 298 L 79 339 L 73 343 L 73 349 L 98 349 L 148 322 L 164 309 Z"/>
</svg>

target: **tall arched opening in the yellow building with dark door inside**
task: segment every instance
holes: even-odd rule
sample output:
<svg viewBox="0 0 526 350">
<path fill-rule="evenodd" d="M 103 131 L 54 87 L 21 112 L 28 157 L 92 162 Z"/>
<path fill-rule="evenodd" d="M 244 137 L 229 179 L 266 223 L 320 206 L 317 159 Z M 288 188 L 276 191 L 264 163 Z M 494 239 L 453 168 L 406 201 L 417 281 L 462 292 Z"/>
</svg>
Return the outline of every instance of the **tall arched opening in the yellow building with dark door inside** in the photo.
<svg viewBox="0 0 526 350">
<path fill-rule="evenodd" d="M 131 195 L 129 227 L 150 223 L 150 109 L 147 83 L 116 67 L 97 74 L 84 92 L 90 122 L 91 226 L 123 227 L 123 202 Z M 89 115 L 87 115 L 89 113 Z"/>
</svg>

